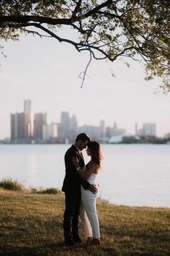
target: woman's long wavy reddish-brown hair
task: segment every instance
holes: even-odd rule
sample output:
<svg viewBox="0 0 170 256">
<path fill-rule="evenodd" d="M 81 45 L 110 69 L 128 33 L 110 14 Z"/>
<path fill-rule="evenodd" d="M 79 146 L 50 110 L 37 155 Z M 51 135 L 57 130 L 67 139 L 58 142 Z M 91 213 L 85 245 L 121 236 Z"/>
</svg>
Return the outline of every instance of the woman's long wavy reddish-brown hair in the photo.
<svg viewBox="0 0 170 256">
<path fill-rule="evenodd" d="M 102 149 L 98 141 L 94 140 L 88 143 L 87 148 L 89 148 L 91 153 L 91 160 L 97 163 L 101 167 L 102 163 Z"/>
</svg>

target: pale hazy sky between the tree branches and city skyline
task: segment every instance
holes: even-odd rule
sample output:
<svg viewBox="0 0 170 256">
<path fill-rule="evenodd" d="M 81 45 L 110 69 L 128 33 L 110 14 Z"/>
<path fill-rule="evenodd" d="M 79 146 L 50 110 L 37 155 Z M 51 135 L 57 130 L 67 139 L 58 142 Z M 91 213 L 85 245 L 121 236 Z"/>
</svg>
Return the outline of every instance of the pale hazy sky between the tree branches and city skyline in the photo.
<svg viewBox="0 0 170 256">
<path fill-rule="evenodd" d="M 89 61 L 88 52 L 33 35 L 1 45 L 6 58 L 0 55 L 0 139 L 10 137 L 10 113 L 22 112 L 24 99 L 32 101 L 35 113 L 47 113 L 48 124 L 59 122 L 61 111 L 68 111 L 79 127 L 104 120 L 106 127 L 116 122 L 128 134 L 135 133 L 135 122 L 139 129 L 143 123 L 156 123 L 157 136 L 170 132 L 170 95 L 155 93 L 159 81 L 146 82 L 142 64 L 92 60 L 81 88 L 79 74 Z"/>
</svg>

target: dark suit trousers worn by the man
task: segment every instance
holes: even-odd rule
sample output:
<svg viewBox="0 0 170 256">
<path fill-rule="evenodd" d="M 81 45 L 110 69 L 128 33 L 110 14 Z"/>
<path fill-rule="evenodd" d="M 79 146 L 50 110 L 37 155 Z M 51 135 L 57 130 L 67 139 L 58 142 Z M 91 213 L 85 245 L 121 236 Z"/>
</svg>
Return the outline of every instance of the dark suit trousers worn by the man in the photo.
<svg viewBox="0 0 170 256">
<path fill-rule="evenodd" d="M 63 216 L 63 230 L 65 242 L 79 237 L 79 208 L 80 192 L 65 193 L 66 210 Z"/>
</svg>

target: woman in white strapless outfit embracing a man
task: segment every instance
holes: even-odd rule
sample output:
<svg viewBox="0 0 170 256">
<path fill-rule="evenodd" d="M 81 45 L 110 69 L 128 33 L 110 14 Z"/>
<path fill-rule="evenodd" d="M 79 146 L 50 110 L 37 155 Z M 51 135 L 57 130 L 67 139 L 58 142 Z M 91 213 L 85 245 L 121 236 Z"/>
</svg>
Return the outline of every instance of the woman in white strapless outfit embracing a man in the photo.
<svg viewBox="0 0 170 256">
<path fill-rule="evenodd" d="M 81 179 L 88 181 L 90 184 L 97 184 L 97 174 L 101 168 L 102 150 L 100 143 L 91 141 L 87 145 L 87 155 L 91 156 L 89 163 L 81 168 L 77 158 L 73 158 L 73 164 L 76 167 Z M 99 191 L 99 189 L 98 189 Z M 81 208 L 80 217 L 84 229 L 84 234 L 87 238 L 86 244 L 100 244 L 99 221 L 97 218 L 96 208 L 97 194 L 92 193 L 89 189 L 84 189 L 81 186 Z"/>
</svg>

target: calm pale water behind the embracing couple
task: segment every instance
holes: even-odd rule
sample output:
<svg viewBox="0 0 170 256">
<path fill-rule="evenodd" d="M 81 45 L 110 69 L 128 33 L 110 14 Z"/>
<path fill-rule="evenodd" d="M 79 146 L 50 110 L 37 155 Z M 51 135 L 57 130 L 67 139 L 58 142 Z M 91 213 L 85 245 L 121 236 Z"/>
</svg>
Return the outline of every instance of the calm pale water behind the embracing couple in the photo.
<svg viewBox="0 0 170 256">
<path fill-rule="evenodd" d="M 17 179 L 25 187 L 61 188 L 68 147 L 0 145 L 0 179 Z M 102 149 L 100 197 L 116 205 L 170 208 L 170 145 L 102 145 Z"/>
</svg>

